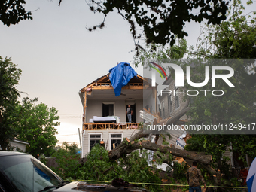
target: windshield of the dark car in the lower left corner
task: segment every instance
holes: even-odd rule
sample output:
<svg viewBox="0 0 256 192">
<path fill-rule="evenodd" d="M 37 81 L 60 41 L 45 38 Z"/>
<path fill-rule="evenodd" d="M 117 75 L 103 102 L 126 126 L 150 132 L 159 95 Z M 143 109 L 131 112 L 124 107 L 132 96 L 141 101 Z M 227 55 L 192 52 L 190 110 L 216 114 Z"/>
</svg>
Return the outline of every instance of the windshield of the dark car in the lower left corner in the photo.
<svg viewBox="0 0 256 192">
<path fill-rule="evenodd" d="M 37 192 L 44 187 L 58 185 L 61 178 L 31 155 L 8 155 L 0 157 L 0 171 L 24 192 Z"/>
</svg>

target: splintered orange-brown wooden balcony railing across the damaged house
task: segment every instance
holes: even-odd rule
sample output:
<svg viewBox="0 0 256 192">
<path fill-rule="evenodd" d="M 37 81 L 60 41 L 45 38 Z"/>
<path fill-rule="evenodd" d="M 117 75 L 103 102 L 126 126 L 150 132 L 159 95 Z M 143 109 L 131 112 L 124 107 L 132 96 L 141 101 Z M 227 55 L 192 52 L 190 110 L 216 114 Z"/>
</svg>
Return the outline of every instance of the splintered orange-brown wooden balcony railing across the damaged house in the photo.
<svg viewBox="0 0 256 192">
<path fill-rule="evenodd" d="M 83 130 L 138 129 L 140 123 L 84 123 Z"/>
</svg>

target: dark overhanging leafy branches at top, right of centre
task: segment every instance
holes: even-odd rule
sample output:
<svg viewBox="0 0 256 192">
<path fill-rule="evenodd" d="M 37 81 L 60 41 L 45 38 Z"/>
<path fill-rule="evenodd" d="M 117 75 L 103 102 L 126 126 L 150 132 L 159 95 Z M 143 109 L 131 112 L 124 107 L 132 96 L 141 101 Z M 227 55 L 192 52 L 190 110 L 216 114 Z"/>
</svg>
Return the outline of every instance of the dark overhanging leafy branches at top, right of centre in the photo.
<svg viewBox="0 0 256 192">
<path fill-rule="evenodd" d="M 59 0 L 61 2 L 61 0 Z M 136 29 L 142 28 L 145 33 L 147 44 L 175 44 L 175 35 L 178 38 L 187 36 L 183 26 L 185 22 L 194 20 L 201 22 L 203 19 L 208 23 L 216 24 L 225 20 L 227 4 L 229 1 L 209 0 L 209 1 L 113 1 L 104 2 L 87 1 L 90 10 L 105 15 L 117 10 L 123 19 L 130 23 L 130 31 L 135 40 L 139 39 L 142 34 L 137 34 Z M 194 10 L 197 10 L 197 14 Z M 105 26 L 104 21 L 99 26 L 93 26 L 89 30 L 102 28 Z M 139 44 L 136 44 L 138 50 Z"/>
</svg>

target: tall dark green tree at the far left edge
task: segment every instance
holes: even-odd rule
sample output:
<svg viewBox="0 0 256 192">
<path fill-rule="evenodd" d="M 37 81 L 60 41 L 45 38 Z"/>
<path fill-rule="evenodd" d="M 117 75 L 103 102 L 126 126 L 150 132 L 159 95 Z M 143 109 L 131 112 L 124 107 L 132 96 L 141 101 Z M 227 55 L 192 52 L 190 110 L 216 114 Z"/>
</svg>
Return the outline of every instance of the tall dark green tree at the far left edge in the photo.
<svg viewBox="0 0 256 192">
<path fill-rule="evenodd" d="M 0 56 L 0 145 L 2 150 L 8 148 L 9 142 L 17 135 L 15 117 L 18 116 L 14 108 L 17 97 L 20 96 L 16 86 L 19 84 L 21 70 L 11 62 Z"/>
</svg>

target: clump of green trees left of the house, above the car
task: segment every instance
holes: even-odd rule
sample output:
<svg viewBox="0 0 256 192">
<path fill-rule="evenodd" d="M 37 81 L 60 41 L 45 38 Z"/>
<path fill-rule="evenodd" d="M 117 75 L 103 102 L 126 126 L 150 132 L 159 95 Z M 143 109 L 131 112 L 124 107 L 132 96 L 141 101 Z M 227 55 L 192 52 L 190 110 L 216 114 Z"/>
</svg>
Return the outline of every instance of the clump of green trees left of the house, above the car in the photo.
<svg viewBox="0 0 256 192">
<path fill-rule="evenodd" d="M 56 108 L 49 108 L 44 103 L 38 105 L 37 98 L 23 98 L 19 102 L 20 91 L 17 90 L 21 70 L 0 56 L 0 146 L 1 150 L 10 149 L 11 141 L 21 139 L 28 142 L 26 151 L 50 156 L 56 145 L 59 125 Z"/>
</svg>

